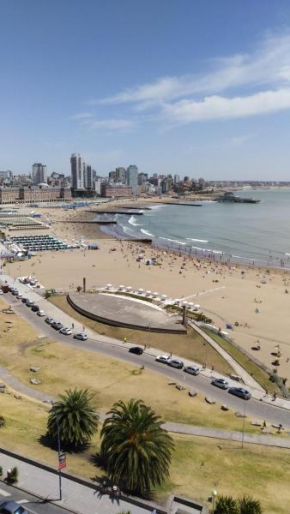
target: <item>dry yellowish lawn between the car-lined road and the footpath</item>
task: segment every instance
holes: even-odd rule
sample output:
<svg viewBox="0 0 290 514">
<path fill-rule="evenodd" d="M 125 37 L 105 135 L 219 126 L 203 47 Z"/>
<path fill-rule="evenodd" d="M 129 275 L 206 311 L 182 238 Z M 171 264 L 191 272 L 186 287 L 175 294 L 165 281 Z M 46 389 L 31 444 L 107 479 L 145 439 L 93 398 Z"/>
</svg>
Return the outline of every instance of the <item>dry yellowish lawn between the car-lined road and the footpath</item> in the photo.
<svg viewBox="0 0 290 514">
<path fill-rule="evenodd" d="M 1 305 L 0 305 L 1 307 Z M 9 317 L 8 332 L 3 331 Z M 241 430 L 242 422 L 231 411 L 222 411 L 219 404 L 209 405 L 204 396 L 188 396 L 188 377 L 180 373 L 180 382 L 186 388 L 179 391 L 169 386 L 169 379 L 140 370 L 124 361 L 112 359 L 64 344 L 38 340 L 37 334 L 20 316 L 0 312 L 0 365 L 13 376 L 31 387 L 57 398 L 68 388 L 88 388 L 94 395 L 100 411 L 108 411 L 122 398 L 142 398 L 166 421 L 176 421 L 199 426 L 212 426 L 228 430 Z M 81 343 L 80 343 L 81 345 Z M 30 371 L 37 366 L 37 373 Z M 41 383 L 32 386 L 30 380 Z M 259 433 L 260 429 L 246 422 L 246 431 Z"/>
</svg>

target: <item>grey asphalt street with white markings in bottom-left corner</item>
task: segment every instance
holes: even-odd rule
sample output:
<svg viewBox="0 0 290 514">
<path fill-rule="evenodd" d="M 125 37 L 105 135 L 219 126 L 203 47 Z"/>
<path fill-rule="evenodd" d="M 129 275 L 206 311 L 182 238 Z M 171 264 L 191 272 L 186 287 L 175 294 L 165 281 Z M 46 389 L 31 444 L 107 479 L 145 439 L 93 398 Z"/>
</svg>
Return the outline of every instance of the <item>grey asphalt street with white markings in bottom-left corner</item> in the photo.
<svg viewBox="0 0 290 514">
<path fill-rule="evenodd" d="M 15 501 L 19 503 L 27 510 L 28 514 L 65 514 L 67 512 L 67 509 L 58 507 L 42 498 L 38 498 L 37 496 L 33 496 L 32 494 L 23 492 L 20 489 L 1 482 L 0 504 L 3 501 Z"/>
</svg>

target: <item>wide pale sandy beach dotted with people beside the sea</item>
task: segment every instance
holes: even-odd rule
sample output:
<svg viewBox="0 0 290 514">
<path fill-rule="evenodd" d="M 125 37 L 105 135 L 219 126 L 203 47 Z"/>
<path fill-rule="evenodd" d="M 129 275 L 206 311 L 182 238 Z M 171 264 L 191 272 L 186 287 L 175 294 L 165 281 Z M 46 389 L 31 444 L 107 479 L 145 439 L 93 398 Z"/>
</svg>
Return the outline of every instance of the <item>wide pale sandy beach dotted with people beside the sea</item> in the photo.
<svg viewBox="0 0 290 514">
<path fill-rule="evenodd" d="M 271 353 L 279 344 L 282 358 L 278 373 L 290 378 L 289 272 L 197 261 L 150 245 L 116 240 L 95 224 L 59 223 L 91 219 L 92 213 L 85 212 L 87 210 L 42 208 L 41 212 L 51 223 L 47 233 L 69 242 L 81 238 L 86 242 L 93 240 L 100 245 L 99 250 L 37 254 L 29 261 L 7 264 L 5 271 L 13 277 L 34 274 L 44 287 L 63 291 L 75 290 L 86 277 L 88 288 L 107 283 L 124 284 L 184 298 L 199 304 L 213 324 L 222 330 L 227 330 L 228 323 L 232 324 L 234 329 L 227 330 L 232 339 L 271 369 L 275 360 Z M 137 262 L 140 252 L 144 251 L 145 258 L 154 256 L 160 265 Z M 289 290 L 289 294 L 285 290 Z M 234 326 L 235 322 L 239 323 L 238 327 Z M 257 340 L 260 351 L 252 350 Z"/>
</svg>

